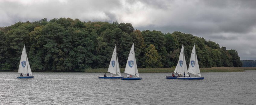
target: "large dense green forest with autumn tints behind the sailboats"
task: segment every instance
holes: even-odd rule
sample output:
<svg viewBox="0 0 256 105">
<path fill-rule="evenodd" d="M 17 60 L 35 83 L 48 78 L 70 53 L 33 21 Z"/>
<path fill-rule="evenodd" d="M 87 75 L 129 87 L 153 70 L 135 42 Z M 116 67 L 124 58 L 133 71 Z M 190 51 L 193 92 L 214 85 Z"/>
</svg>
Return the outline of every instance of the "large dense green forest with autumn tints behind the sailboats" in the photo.
<svg viewBox="0 0 256 105">
<path fill-rule="evenodd" d="M 189 64 L 194 43 L 200 67 L 242 67 L 235 49 L 191 34 L 140 31 L 117 21 L 44 18 L 0 28 L 0 70 L 18 69 L 24 44 L 32 71 L 107 68 L 115 44 L 120 67 L 125 67 L 133 42 L 138 67 L 176 66 L 182 44 Z"/>
</svg>

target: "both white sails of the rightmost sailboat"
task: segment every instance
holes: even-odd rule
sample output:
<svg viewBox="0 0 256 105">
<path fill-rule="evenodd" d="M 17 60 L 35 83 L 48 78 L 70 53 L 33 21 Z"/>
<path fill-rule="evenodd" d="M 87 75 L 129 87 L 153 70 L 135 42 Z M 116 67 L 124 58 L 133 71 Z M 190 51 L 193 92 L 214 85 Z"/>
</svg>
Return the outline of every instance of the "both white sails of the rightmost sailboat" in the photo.
<svg viewBox="0 0 256 105">
<path fill-rule="evenodd" d="M 191 52 L 189 66 L 188 66 L 188 72 L 201 77 L 199 64 L 198 64 L 198 61 L 197 61 L 197 53 L 196 53 L 196 46 L 195 45 L 194 45 L 194 47 L 192 49 L 192 52 Z"/>
</svg>

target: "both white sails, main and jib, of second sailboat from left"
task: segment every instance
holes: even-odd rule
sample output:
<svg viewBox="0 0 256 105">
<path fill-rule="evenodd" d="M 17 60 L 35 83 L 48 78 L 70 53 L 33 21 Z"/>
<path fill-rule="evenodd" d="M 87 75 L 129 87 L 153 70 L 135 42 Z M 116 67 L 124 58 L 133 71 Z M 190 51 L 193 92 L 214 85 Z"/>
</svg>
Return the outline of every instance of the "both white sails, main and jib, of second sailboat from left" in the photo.
<svg viewBox="0 0 256 105">
<path fill-rule="evenodd" d="M 110 60 L 110 64 L 109 64 L 107 72 L 110 72 L 113 74 L 118 74 L 121 76 L 119 63 L 118 63 L 118 59 L 117 59 L 117 46 L 115 46 L 115 48 L 114 48 L 112 58 Z"/>
</svg>

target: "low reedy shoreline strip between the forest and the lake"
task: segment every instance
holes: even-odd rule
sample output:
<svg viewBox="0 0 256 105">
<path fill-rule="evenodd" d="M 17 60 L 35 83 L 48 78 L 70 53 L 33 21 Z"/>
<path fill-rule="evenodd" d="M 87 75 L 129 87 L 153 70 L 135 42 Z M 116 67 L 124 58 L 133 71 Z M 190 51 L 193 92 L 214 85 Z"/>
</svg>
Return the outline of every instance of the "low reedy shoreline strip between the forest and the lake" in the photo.
<svg viewBox="0 0 256 105">
<path fill-rule="evenodd" d="M 124 72 L 125 68 L 120 68 L 121 73 Z M 175 67 L 172 68 L 138 68 L 139 73 L 168 73 L 173 72 Z M 244 72 L 245 70 L 256 70 L 256 67 L 211 67 L 211 68 L 200 68 L 200 72 Z M 4 72 L 4 71 L 2 71 Z M 18 70 L 5 71 L 5 72 L 18 72 Z M 58 71 L 33 71 L 32 72 L 58 72 Z M 65 72 L 65 71 L 61 71 Z M 96 69 L 85 69 L 80 72 L 87 73 L 107 73 L 107 68 L 96 68 Z"/>
</svg>

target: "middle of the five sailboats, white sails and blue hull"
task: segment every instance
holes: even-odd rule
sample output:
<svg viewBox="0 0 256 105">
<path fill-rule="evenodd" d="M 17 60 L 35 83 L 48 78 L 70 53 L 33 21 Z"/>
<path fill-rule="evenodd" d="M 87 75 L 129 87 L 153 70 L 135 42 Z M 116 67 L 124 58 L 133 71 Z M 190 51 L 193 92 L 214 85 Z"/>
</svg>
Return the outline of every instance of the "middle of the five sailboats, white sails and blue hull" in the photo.
<svg viewBox="0 0 256 105">
<path fill-rule="evenodd" d="M 136 58 L 135 58 L 135 52 L 134 52 L 134 44 L 130 50 L 130 54 L 129 54 L 128 60 L 126 62 L 126 67 L 125 67 L 124 73 L 133 75 L 135 77 L 121 78 L 122 80 L 140 80 L 140 79 L 142 79 L 141 77 L 139 77 L 139 72 L 138 72 Z"/>
</svg>

